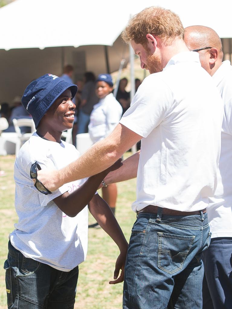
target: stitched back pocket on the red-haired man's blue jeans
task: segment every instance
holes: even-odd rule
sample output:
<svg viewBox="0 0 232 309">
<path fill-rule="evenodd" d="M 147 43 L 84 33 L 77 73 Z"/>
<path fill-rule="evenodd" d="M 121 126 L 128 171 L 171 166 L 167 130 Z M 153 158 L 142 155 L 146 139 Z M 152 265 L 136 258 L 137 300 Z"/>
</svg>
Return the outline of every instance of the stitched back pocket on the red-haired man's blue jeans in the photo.
<svg viewBox="0 0 232 309">
<path fill-rule="evenodd" d="M 173 274 L 182 269 L 195 236 L 182 236 L 158 232 L 158 267 Z"/>
</svg>

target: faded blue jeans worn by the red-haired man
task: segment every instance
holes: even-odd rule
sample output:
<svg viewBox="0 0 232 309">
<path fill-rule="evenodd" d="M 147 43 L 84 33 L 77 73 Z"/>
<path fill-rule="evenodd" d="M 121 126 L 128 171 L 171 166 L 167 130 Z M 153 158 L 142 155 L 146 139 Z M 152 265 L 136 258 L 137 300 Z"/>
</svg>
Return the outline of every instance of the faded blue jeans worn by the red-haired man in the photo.
<svg viewBox="0 0 232 309">
<path fill-rule="evenodd" d="M 208 248 L 207 214 L 140 213 L 132 228 L 123 287 L 123 309 L 200 309 Z"/>
</svg>

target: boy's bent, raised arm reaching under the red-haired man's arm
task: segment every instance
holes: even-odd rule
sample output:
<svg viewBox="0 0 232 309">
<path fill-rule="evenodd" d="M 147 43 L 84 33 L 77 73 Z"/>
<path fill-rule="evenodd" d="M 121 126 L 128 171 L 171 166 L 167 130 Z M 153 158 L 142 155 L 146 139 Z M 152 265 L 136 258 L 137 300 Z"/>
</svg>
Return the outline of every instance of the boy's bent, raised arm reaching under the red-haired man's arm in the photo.
<svg viewBox="0 0 232 309">
<path fill-rule="evenodd" d="M 71 194 L 65 192 L 59 197 L 54 198 L 53 201 L 59 207 L 59 209 L 62 210 L 62 212 L 67 214 L 67 216 L 75 217 L 82 209 L 84 209 L 86 205 L 88 205 L 105 176 L 110 171 L 113 171 L 120 166 L 122 166 L 122 159 L 116 161 L 105 171 L 89 177 L 82 186 L 80 186 Z"/>
</svg>

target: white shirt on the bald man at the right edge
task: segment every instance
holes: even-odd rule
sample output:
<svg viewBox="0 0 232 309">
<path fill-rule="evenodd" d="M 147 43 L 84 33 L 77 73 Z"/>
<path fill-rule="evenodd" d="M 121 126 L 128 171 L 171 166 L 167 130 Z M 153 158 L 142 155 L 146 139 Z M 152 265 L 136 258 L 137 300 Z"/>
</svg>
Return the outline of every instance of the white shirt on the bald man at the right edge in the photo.
<svg viewBox="0 0 232 309">
<path fill-rule="evenodd" d="M 217 170 L 217 188 L 210 198 L 208 218 L 212 238 L 232 237 L 232 66 L 230 61 L 213 74 L 224 104 L 221 132 L 221 155 Z"/>
</svg>

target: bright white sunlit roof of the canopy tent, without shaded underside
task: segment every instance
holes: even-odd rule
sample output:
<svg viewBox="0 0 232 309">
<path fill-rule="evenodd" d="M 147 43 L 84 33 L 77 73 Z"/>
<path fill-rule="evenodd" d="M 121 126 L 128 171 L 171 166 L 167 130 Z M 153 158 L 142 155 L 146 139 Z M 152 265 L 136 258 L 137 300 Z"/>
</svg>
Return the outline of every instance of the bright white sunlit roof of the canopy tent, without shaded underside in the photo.
<svg viewBox="0 0 232 309">
<path fill-rule="evenodd" d="M 131 14 L 159 5 L 177 13 L 184 27 L 201 24 L 232 37 L 230 1 L 16 0 L 0 9 L 0 49 L 112 46 Z"/>
</svg>

